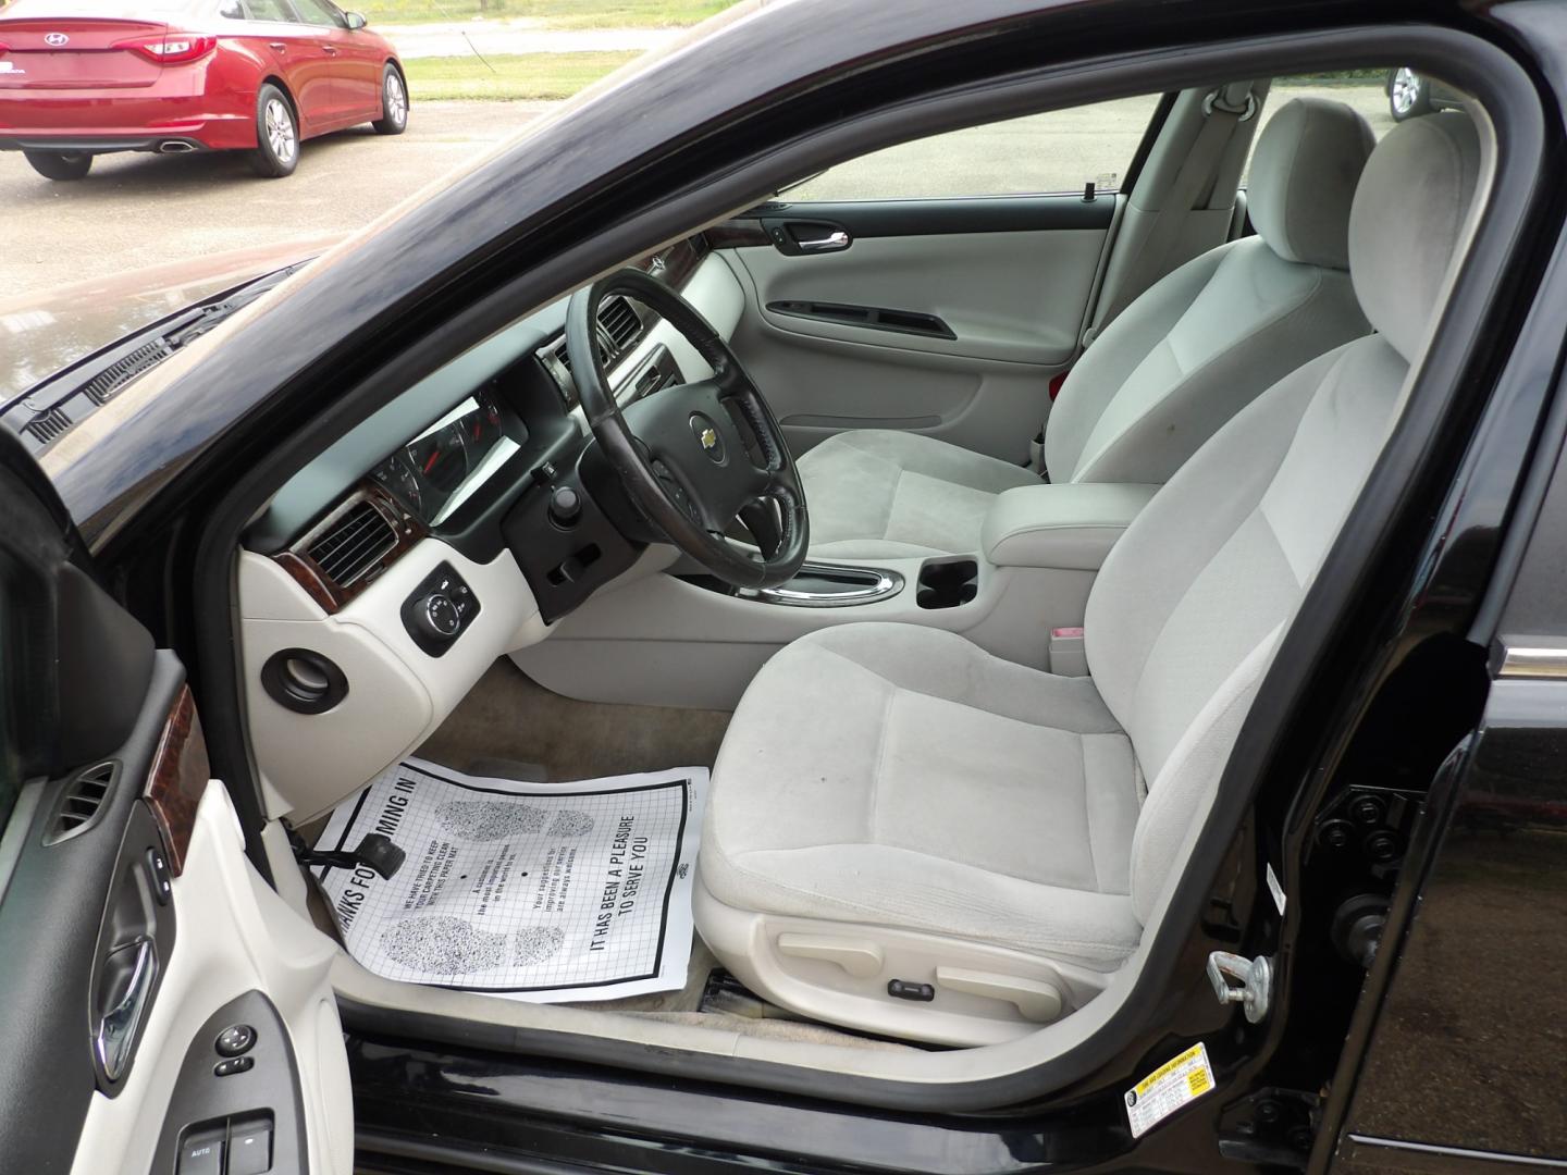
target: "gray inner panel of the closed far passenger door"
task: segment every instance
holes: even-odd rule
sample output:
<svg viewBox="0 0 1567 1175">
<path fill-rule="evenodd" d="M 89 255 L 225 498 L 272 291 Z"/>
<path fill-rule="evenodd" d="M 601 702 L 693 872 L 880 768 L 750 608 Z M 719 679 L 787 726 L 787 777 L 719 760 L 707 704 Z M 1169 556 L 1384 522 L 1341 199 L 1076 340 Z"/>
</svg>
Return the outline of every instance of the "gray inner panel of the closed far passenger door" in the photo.
<svg viewBox="0 0 1567 1175">
<path fill-rule="evenodd" d="M 760 233 L 718 238 L 747 296 L 735 349 L 796 453 L 843 429 L 901 428 L 1022 461 L 1051 376 L 1077 356 L 1114 207 L 1036 196 L 766 208 Z M 809 233 L 794 227 L 805 222 Z M 848 246 L 790 249 L 821 240 L 818 226 L 838 226 Z"/>
</svg>

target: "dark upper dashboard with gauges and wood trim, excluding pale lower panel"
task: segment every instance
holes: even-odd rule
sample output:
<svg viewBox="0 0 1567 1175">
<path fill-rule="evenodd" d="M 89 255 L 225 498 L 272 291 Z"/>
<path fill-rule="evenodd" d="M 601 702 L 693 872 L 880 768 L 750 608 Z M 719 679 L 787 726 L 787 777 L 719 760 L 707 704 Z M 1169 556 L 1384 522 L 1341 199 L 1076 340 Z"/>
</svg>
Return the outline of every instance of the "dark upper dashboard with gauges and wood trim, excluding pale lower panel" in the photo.
<svg viewBox="0 0 1567 1175">
<path fill-rule="evenodd" d="M 710 254 L 697 237 L 641 265 L 680 288 Z M 512 323 L 360 421 L 279 489 L 244 547 L 276 559 L 329 614 L 429 536 L 476 562 L 511 548 L 547 619 L 580 603 L 635 542 L 608 519 L 561 508 L 583 501 L 591 514 L 603 497 L 578 468 L 592 446 L 564 345 L 566 307 L 561 299 Z M 600 306 L 595 346 L 622 403 L 683 381 L 675 351 L 700 362 L 622 296 Z M 523 520 L 534 528 L 527 539 Z"/>
</svg>

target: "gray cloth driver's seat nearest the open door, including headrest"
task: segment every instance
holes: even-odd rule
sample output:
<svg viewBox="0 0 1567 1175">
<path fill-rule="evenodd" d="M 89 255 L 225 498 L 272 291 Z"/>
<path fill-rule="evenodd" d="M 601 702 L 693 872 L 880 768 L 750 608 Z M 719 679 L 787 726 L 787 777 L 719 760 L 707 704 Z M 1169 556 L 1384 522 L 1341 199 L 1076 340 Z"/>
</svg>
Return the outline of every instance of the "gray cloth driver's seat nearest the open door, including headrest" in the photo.
<svg viewBox="0 0 1567 1175">
<path fill-rule="evenodd" d="M 1039 985 L 1062 1010 L 1103 987 L 1393 426 L 1478 160 L 1462 114 L 1377 147 L 1351 221 L 1377 334 L 1280 379 L 1153 497 L 1089 597 L 1091 677 L 888 624 L 820 630 L 763 666 L 699 857 L 697 926 L 735 974 L 816 1018 L 946 1043 L 1050 1018 Z M 892 1000 L 888 979 L 934 998 Z M 993 995 L 1006 982 L 1020 1004 Z"/>
</svg>

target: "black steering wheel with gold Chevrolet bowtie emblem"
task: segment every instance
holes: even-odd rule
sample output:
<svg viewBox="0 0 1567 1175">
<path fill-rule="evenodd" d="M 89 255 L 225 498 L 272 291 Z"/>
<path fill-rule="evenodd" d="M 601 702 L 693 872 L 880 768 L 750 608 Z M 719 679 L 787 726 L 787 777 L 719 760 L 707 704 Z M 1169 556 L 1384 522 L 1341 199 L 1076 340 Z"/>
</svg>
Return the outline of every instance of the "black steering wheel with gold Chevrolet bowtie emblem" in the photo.
<svg viewBox="0 0 1567 1175">
<path fill-rule="evenodd" d="M 636 299 L 679 331 L 713 376 L 616 403 L 594 335 L 610 295 Z M 735 352 L 685 298 L 641 269 L 572 295 L 566 352 L 594 439 L 632 501 L 675 547 L 736 588 L 773 588 L 805 559 L 805 494 L 784 429 Z M 727 537 L 730 523 L 755 548 Z"/>
</svg>

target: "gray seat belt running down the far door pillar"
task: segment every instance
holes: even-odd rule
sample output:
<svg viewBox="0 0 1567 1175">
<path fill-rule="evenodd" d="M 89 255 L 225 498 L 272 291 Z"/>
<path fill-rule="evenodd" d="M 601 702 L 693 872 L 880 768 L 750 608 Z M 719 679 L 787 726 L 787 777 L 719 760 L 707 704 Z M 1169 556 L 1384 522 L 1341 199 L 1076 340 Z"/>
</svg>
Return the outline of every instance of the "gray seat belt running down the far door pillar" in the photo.
<svg viewBox="0 0 1567 1175">
<path fill-rule="evenodd" d="M 1142 248 L 1122 271 L 1116 288 L 1100 301 L 1092 326 L 1083 332 L 1084 349 L 1116 320 L 1116 315 L 1172 268 L 1167 262 L 1180 241 L 1186 213 L 1194 210 L 1199 199 L 1203 202 L 1211 199 L 1213 183 L 1235 136 L 1235 127 L 1255 113 L 1257 97 L 1252 94 L 1250 81 L 1230 81 L 1203 100 L 1197 138 L 1192 139 L 1180 171 L 1175 172 L 1160 210 L 1153 213 L 1153 224 L 1142 238 Z"/>
</svg>

